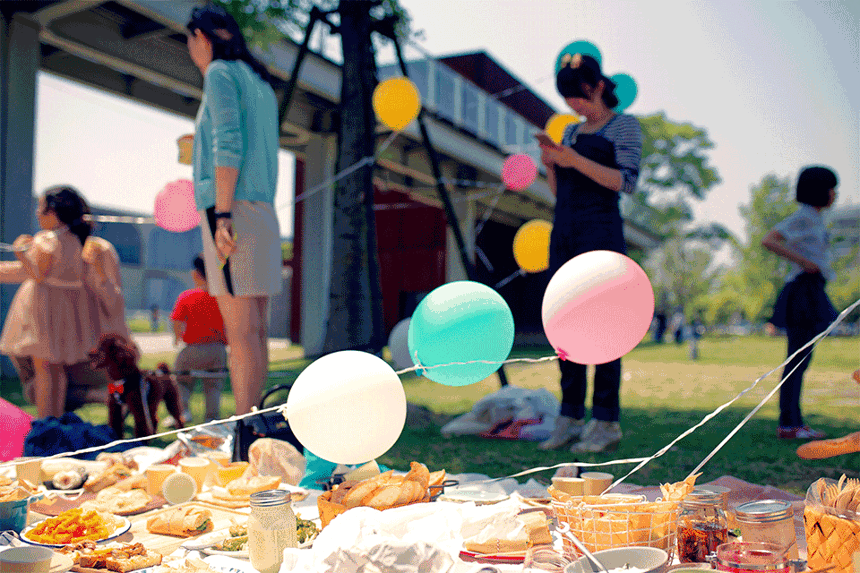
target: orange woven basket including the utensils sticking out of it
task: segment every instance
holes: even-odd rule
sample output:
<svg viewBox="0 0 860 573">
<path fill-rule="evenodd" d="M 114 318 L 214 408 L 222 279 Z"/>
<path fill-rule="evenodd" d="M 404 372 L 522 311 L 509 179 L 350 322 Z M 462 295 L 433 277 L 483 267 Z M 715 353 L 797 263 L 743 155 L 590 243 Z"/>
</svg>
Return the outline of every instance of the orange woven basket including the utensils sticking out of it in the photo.
<svg viewBox="0 0 860 573">
<path fill-rule="evenodd" d="M 860 480 L 819 479 L 806 492 L 803 508 L 810 569 L 834 566 L 851 573 L 852 556 L 860 551 Z"/>
</svg>

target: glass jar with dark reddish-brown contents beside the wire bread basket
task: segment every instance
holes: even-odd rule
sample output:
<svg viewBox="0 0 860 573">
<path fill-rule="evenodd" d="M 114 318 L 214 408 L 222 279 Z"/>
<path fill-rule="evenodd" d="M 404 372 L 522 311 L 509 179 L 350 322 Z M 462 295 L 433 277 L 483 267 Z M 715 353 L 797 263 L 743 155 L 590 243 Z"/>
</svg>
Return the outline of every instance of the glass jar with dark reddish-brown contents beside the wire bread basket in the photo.
<svg viewBox="0 0 860 573">
<path fill-rule="evenodd" d="M 708 555 L 729 539 L 726 513 L 718 492 L 693 490 L 678 515 L 678 560 L 706 563 Z"/>
</svg>

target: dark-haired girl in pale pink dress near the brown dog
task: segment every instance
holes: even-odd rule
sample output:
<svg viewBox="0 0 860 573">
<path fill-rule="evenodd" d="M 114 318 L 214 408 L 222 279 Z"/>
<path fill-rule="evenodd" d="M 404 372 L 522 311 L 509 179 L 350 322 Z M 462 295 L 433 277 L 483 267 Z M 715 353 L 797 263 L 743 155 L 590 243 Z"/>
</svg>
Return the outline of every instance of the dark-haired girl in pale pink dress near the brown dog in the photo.
<svg viewBox="0 0 860 573">
<path fill-rule="evenodd" d="M 18 262 L 0 264 L 2 282 L 19 282 L 0 334 L 0 353 L 30 357 L 38 415 L 65 411 L 64 367 L 87 359 L 97 342 L 91 298 L 84 288 L 81 249 L 91 232 L 89 207 L 71 187 L 53 187 L 39 198 L 41 231 L 21 235 L 14 246 Z"/>
</svg>

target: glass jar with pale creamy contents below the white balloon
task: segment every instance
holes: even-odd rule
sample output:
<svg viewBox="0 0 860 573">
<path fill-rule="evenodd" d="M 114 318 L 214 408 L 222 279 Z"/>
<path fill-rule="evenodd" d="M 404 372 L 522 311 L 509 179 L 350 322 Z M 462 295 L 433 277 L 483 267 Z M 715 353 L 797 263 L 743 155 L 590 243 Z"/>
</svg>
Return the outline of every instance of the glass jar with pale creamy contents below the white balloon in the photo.
<svg viewBox="0 0 860 573">
<path fill-rule="evenodd" d="M 290 501 L 290 492 L 280 489 L 251 494 L 248 553 L 251 566 L 260 573 L 277 573 L 284 549 L 299 545 Z"/>
</svg>

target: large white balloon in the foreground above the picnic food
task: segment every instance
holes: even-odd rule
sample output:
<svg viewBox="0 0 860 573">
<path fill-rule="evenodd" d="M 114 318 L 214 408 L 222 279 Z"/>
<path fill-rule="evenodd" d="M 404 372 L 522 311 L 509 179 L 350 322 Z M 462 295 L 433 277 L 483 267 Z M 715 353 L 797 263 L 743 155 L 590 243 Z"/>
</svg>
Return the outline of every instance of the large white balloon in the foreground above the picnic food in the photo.
<svg viewBox="0 0 860 573">
<path fill-rule="evenodd" d="M 334 352 L 299 374 L 287 398 L 287 420 L 302 445 L 322 459 L 364 463 L 400 437 L 406 394 L 383 359 L 357 350 Z"/>
</svg>

